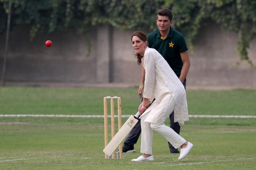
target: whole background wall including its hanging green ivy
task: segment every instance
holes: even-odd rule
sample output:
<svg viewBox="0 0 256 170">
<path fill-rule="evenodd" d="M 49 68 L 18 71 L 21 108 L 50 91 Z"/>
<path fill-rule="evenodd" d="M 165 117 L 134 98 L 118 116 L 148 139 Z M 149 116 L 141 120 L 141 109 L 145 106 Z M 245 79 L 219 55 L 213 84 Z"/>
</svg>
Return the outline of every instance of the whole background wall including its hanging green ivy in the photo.
<svg viewBox="0 0 256 170">
<path fill-rule="evenodd" d="M 8 2 L 0 0 L 0 75 Z M 137 85 L 131 34 L 156 30 L 156 11 L 165 7 L 188 42 L 188 88 L 256 88 L 256 8 L 249 0 L 12 0 L 6 83 Z"/>
</svg>

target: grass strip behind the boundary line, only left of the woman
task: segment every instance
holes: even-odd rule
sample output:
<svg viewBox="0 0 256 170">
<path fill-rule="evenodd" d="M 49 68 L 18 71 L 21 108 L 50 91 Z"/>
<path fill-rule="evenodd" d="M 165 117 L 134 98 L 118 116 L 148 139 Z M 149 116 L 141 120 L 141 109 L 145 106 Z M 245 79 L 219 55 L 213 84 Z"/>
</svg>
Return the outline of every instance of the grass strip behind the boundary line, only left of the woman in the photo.
<svg viewBox="0 0 256 170">
<path fill-rule="evenodd" d="M 122 98 L 122 111 L 126 114 L 139 106 L 137 88 L 1 87 L 0 114 L 101 115 L 103 97 L 113 95 Z"/>
</svg>

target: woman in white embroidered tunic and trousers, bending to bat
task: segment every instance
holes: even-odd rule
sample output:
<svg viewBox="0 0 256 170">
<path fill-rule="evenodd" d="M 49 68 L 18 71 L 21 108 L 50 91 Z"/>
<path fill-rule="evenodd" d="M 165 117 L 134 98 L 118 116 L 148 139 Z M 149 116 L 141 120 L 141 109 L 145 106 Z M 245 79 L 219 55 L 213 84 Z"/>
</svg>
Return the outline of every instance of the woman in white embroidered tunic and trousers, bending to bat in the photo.
<svg viewBox="0 0 256 170">
<path fill-rule="evenodd" d="M 135 50 L 138 64 L 143 64 L 146 71 L 143 102 L 139 106 L 141 119 L 142 156 L 132 161 L 153 161 L 152 140 L 153 130 L 163 135 L 174 148 L 180 147 L 179 160 L 183 159 L 193 144 L 178 135 L 164 121 L 174 110 L 174 122 L 180 125 L 188 121 L 188 106 L 186 92 L 179 78 L 169 64 L 154 48 L 148 48 L 147 36 L 142 31 L 132 35 L 132 46 Z M 153 103 L 152 101 L 156 99 Z M 152 103 L 150 105 L 150 103 Z M 150 106 L 149 106 L 150 105 Z M 143 107 L 142 107 L 143 106 Z"/>
</svg>

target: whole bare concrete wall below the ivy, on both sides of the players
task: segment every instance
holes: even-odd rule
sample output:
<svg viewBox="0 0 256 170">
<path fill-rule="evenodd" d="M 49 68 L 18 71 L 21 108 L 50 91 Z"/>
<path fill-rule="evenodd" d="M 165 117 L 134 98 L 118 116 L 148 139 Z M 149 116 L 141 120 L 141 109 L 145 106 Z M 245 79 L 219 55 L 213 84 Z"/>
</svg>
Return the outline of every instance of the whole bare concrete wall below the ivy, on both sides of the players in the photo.
<svg viewBox="0 0 256 170">
<path fill-rule="evenodd" d="M 15 27 L 10 32 L 6 82 L 137 85 L 141 66 L 137 65 L 133 55 L 133 31 L 121 31 L 105 25 L 92 27 L 87 35 L 78 35 L 70 30 L 38 34 L 29 41 L 29 26 Z M 0 35 L 0 40 L 2 75 L 5 34 Z M 46 40 L 52 41 L 52 47 L 44 45 Z M 236 65 L 240 61 L 237 41 L 235 33 L 224 31 L 212 22 L 202 28 L 194 51 L 189 50 L 191 67 L 187 87 L 256 88 L 256 69 L 246 61 Z M 86 56 L 88 42 L 91 43 L 90 56 Z M 248 54 L 256 66 L 255 47 L 254 39 Z"/>
</svg>

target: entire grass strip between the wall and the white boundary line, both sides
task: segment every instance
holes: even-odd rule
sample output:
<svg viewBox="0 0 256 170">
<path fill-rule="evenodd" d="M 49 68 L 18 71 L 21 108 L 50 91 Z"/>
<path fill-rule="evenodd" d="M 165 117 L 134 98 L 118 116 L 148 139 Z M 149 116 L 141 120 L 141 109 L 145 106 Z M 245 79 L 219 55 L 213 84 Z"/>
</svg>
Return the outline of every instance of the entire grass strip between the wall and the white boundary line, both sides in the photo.
<svg viewBox="0 0 256 170">
<path fill-rule="evenodd" d="M 103 97 L 122 99 L 123 115 L 136 112 L 138 88 L 0 87 L 0 114 L 102 115 Z M 256 90 L 187 90 L 190 115 L 256 115 Z M 132 112 L 132 113 L 131 113 Z"/>
</svg>

